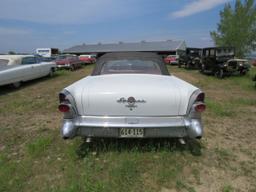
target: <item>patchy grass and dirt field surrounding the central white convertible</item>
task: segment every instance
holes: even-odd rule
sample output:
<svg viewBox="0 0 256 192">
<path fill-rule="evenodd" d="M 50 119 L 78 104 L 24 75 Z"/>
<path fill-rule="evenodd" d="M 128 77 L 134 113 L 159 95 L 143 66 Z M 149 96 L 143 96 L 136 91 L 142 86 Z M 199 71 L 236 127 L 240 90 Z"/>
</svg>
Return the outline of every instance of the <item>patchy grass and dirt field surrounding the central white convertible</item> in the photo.
<svg viewBox="0 0 256 192">
<path fill-rule="evenodd" d="M 168 67 L 206 92 L 205 136 L 177 140 L 64 141 L 58 92 L 93 65 L 0 87 L 0 191 L 255 191 L 255 89 L 251 76 L 223 80 Z M 237 185 L 236 179 L 243 183 Z M 246 188 L 249 186 L 249 189 Z"/>
</svg>

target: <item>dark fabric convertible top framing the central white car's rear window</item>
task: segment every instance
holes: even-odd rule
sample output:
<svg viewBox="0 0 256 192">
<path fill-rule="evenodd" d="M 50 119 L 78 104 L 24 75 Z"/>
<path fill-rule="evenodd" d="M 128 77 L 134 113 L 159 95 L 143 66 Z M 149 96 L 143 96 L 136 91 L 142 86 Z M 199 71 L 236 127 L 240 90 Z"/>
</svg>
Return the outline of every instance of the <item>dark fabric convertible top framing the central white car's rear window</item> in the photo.
<svg viewBox="0 0 256 192">
<path fill-rule="evenodd" d="M 163 59 L 156 53 L 151 52 L 115 52 L 115 53 L 106 53 L 105 55 L 101 56 L 97 62 L 96 66 L 92 72 L 92 76 L 100 75 L 102 66 L 104 63 L 108 61 L 115 61 L 115 60 L 142 60 L 142 61 L 154 61 L 159 65 L 159 68 L 162 72 L 162 75 L 170 75 L 168 69 L 166 68 Z"/>
</svg>

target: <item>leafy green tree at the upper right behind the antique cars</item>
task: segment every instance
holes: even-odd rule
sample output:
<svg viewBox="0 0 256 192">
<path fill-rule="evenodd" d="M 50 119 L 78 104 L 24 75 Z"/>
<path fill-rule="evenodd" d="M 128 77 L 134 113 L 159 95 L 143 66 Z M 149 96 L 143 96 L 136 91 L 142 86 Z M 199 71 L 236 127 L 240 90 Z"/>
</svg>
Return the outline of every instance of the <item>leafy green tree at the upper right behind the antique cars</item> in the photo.
<svg viewBox="0 0 256 192">
<path fill-rule="evenodd" d="M 236 0 L 220 11 L 220 23 L 217 31 L 210 32 L 216 46 L 232 46 L 236 56 L 243 57 L 255 48 L 256 42 L 256 6 L 254 0 Z"/>
</svg>

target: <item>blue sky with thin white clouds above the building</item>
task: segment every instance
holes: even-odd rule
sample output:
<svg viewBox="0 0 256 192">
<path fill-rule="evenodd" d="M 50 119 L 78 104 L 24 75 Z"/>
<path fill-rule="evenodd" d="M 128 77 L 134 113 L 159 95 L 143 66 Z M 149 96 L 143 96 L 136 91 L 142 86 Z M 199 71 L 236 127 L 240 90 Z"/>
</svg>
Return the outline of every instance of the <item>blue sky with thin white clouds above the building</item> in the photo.
<svg viewBox="0 0 256 192">
<path fill-rule="evenodd" d="M 142 40 L 207 47 L 227 2 L 234 0 L 1 0 L 0 53 Z"/>
</svg>

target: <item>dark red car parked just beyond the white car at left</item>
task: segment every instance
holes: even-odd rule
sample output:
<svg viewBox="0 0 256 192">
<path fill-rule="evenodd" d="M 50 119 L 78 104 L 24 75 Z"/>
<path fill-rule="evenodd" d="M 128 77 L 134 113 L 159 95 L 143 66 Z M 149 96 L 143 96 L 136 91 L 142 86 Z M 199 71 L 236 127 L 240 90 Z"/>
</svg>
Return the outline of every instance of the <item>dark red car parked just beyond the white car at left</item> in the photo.
<svg viewBox="0 0 256 192">
<path fill-rule="evenodd" d="M 56 64 L 59 69 L 76 70 L 82 66 L 82 62 L 78 56 L 75 55 L 59 55 L 56 58 Z"/>
</svg>

